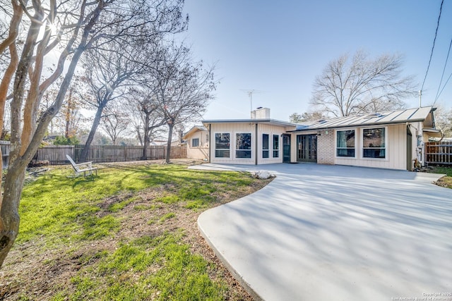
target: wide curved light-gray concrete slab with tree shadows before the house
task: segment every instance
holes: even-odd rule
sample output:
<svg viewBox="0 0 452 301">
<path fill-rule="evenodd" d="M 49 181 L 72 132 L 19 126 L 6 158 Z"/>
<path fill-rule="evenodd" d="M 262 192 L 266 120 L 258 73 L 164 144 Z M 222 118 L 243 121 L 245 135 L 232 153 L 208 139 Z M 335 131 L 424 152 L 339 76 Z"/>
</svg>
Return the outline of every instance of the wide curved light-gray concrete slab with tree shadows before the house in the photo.
<svg viewBox="0 0 452 301">
<path fill-rule="evenodd" d="M 452 300 L 452 190 L 432 185 L 439 175 L 317 164 L 193 168 L 277 176 L 198 219 L 257 299 Z"/>
</svg>

